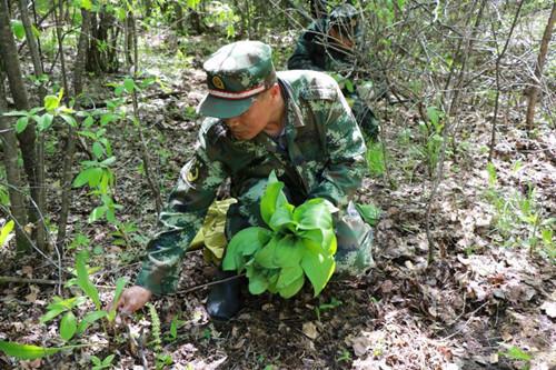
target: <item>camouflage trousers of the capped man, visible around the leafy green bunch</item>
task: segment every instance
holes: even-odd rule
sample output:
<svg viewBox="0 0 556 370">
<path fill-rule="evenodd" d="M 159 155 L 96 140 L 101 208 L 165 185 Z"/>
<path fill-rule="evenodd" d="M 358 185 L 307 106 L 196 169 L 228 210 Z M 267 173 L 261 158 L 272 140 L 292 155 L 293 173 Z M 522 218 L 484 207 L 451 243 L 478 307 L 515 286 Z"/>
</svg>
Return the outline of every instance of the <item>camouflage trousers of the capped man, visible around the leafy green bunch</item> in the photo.
<svg viewBox="0 0 556 370">
<path fill-rule="evenodd" d="M 226 212 L 226 224 L 224 230 L 221 228 L 218 230 L 207 230 L 203 227 L 205 237 L 208 236 L 215 239 L 211 234 L 215 232 L 221 233 L 224 231 L 226 239 L 230 240 L 238 231 L 245 228 L 252 226 L 267 227 L 260 216 L 260 199 L 266 187 L 266 179 L 254 181 L 254 183 L 238 197 L 237 202 L 229 206 Z M 302 200 L 299 199 L 296 202 L 296 198 L 298 197 L 296 197 L 296 193 L 290 189 L 285 188 L 284 191 L 288 200 L 294 204 L 302 202 Z M 218 204 L 219 202 L 216 202 L 212 207 L 218 207 Z M 215 214 L 215 212 L 209 213 Z M 219 214 L 224 217 L 221 211 Z M 373 260 L 373 228 L 363 220 L 353 202 L 349 202 L 346 209 L 340 210 L 334 218 L 336 239 L 338 242 L 338 249 L 335 256 L 336 272 L 351 276 L 367 272 L 375 266 Z M 221 224 L 221 222 L 214 221 L 210 223 Z M 224 256 L 224 253 L 218 254 L 219 257 Z"/>
</svg>

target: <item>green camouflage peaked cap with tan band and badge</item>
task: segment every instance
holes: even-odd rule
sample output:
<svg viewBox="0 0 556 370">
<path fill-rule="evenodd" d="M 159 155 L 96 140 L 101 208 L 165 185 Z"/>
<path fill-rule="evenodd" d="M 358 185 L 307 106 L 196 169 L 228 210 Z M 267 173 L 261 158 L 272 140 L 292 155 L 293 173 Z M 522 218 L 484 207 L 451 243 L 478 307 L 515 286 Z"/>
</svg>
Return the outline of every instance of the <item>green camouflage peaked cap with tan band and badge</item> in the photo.
<svg viewBox="0 0 556 370">
<path fill-rule="evenodd" d="M 255 97 L 276 82 L 271 48 L 260 41 L 227 44 L 202 64 L 209 92 L 197 107 L 202 116 L 231 118 L 251 107 Z"/>
</svg>

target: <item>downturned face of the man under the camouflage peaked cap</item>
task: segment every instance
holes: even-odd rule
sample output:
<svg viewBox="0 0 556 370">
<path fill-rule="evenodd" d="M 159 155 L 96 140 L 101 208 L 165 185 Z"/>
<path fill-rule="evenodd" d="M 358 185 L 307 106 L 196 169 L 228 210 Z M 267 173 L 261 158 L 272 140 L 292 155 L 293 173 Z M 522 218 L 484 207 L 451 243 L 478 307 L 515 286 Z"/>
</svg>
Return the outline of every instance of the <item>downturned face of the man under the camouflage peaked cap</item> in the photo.
<svg viewBox="0 0 556 370">
<path fill-rule="evenodd" d="M 224 120 L 236 139 L 251 140 L 269 123 L 272 112 L 272 100 L 269 92 L 270 90 L 259 93 L 251 107 L 241 116 Z"/>
</svg>

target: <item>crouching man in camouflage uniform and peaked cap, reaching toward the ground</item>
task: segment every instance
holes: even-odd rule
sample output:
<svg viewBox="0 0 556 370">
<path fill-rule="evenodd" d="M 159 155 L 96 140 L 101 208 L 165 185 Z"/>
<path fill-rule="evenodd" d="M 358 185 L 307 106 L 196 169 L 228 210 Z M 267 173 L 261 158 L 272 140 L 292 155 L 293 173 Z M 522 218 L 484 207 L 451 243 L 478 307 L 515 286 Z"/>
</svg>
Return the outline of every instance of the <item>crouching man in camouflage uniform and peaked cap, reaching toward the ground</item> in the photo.
<svg viewBox="0 0 556 370">
<path fill-rule="evenodd" d="M 198 109 L 214 118 L 202 122 L 195 157 L 181 170 L 120 309 L 131 312 L 152 293 L 176 291 L 182 257 L 225 180 L 238 200 L 227 212 L 228 240 L 246 227 L 264 226 L 259 200 L 272 170 L 294 204 L 320 197 L 340 209 L 337 270 L 368 269 L 373 232 L 350 202 L 365 172 L 366 147 L 334 79 L 315 71 L 276 72 L 270 47 L 257 41 L 219 49 L 203 69 L 209 92 Z M 207 309 L 214 318 L 229 319 L 239 303 L 234 280 L 214 286 Z"/>
</svg>

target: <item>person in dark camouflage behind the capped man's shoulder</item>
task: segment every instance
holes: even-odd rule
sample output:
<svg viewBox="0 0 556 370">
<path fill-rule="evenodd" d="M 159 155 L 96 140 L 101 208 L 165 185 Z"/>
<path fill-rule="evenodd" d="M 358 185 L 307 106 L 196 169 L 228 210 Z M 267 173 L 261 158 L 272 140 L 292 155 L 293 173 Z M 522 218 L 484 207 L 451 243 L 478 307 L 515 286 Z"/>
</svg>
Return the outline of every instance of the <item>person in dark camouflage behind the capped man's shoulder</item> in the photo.
<svg viewBox="0 0 556 370">
<path fill-rule="evenodd" d="M 350 4 L 335 8 L 330 17 L 314 21 L 299 37 L 296 50 L 288 60 L 288 69 L 350 73 L 355 67 L 354 49 L 361 41 L 357 9 Z M 378 120 L 370 107 L 360 98 L 356 88 L 342 89 L 353 100 L 351 110 L 365 140 L 376 140 Z"/>
</svg>

